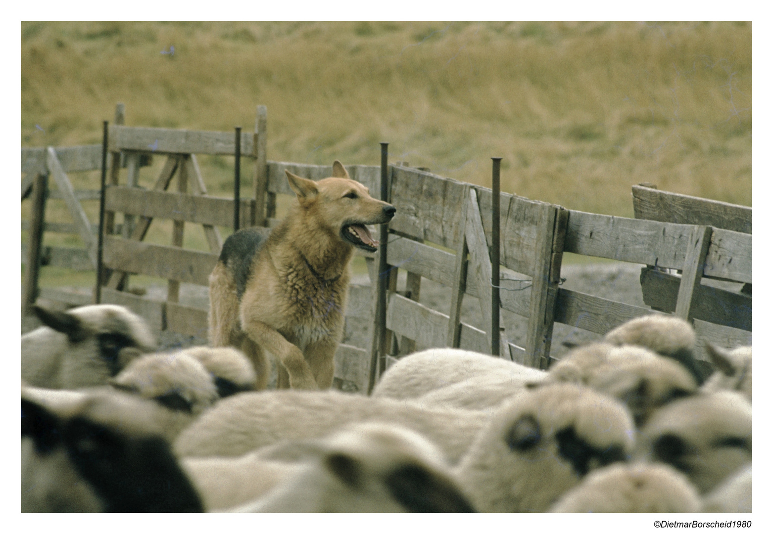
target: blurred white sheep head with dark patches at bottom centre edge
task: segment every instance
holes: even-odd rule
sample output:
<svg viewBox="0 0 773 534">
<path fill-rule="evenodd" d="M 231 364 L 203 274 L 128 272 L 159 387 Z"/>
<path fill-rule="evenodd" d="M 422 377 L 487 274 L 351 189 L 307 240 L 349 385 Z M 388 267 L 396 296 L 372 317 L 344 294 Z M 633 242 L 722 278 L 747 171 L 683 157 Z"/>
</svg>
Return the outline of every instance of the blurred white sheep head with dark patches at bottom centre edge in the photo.
<svg viewBox="0 0 773 534">
<path fill-rule="evenodd" d="M 235 512 L 474 512 L 438 448 L 396 425 L 363 423 L 320 440 L 292 478 Z"/>
</svg>

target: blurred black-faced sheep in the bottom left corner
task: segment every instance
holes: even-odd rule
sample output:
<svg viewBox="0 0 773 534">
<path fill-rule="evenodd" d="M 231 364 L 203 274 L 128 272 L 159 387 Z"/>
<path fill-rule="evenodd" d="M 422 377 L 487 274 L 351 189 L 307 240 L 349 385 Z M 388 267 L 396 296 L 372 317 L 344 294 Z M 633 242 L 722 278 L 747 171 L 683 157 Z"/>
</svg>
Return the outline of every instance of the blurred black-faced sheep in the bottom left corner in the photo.
<svg viewBox="0 0 773 534">
<path fill-rule="evenodd" d="M 147 401 L 118 396 L 66 416 L 22 393 L 22 512 L 202 512 L 168 442 L 150 431 Z"/>
</svg>

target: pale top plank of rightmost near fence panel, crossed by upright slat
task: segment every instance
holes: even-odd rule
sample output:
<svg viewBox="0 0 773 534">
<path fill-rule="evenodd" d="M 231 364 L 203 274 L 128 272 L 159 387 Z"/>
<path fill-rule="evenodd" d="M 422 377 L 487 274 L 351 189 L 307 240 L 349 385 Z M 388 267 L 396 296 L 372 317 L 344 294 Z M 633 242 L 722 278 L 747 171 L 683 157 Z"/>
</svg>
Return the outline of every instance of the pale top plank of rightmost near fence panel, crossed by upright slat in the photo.
<svg viewBox="0 0 773 534">
<path fill-rule="evenodd" d="M 569 211 L 564 252 L 681 269 L 692 225 Z M 751 282 L 751 234 L 715 230 L 704 277 Z"/>
</svg>

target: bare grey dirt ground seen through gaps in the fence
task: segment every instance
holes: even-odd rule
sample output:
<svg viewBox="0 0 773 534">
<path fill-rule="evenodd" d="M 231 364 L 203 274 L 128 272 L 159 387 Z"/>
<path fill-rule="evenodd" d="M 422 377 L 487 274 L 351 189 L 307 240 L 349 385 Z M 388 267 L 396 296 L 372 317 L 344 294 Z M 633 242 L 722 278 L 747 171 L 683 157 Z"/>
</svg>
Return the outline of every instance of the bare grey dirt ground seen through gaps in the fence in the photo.
<svg viewBox="0 0 773 534">
<path fill-rule="evenodd" d="M 641 267 L 640 265 L 621 263 L 566 265 L 561 270 L 561 277 L 566 278 L 562 287 L 625 302 L 626 304 L 644 306 L 642 290 L 638 281 Z M 361 286 L 369 285 L 366 275 L 353 277 L 352 281 Z M 398 277 L 397 289 L 404 288 L 404 285 L 405 277 L 403 273 Z M 146 296 L 162 301 L 166 297 L 166 287 L 149 287 Z M 451 291 L 448 287 L 424 279 L 421 282 L 419 301 L 430 308 L 447 313 L 451 305 Z M 180 302 L 181 304 L 205 308 L 208 305 L 206 287 L 182 284 L 180 288 Z M 369 346 L 370 310 L 369 287 L 352 289 L 347 311 L 346 331 L 344 332 L 342 342 L 363 348 Z M 461 318 L 462 321 L 469 325 L 485 329 L 485 325 L 482 324 L 480 304 L 478 304 L 478 299 L 476 298 L 465 297 L 462 302 Z M 509 342 L 519 346 L 526 345 L 526 318 L 503 310 L 501 324 L 505 327 L 505 335 Z M 36 328 L 37 325 L 39 325 L 39 322 L 35 318 L 22 318 L 22 333 Z M 567 351 L 562 342 L 591 342 L 600 337 L 601 335 L 574 328 L 570 325 L 556 324 L 553 328 L 553 344 L 550 353 L 553 357 L 560 358 Z M 162 349 L 203 345 L 206 344 L 206 341 L 204 337 L 176 334 L 175 332 L 161 332 L 159 335 L 159 345 Z M 417 347 L 417 349 L 421 349 L 421 347 Z"/>
</svg>

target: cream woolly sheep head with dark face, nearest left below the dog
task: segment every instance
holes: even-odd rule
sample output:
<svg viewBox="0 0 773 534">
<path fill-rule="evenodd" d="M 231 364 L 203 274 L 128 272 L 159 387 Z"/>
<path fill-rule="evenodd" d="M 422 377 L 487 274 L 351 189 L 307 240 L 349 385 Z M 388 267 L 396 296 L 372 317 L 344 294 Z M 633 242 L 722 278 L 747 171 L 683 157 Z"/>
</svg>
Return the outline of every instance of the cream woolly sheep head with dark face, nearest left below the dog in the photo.
<svg viewBox="0 0 773 534">
<path fill-rule="evenodd" d="M 168 430 L 172 435 L 220 398 L 213 377 L 198 359 L 185 352 L 143 355 L 111 379 L 110 384 L 172 410 L 176 414 L 170 418 Z"/>
</svg>

